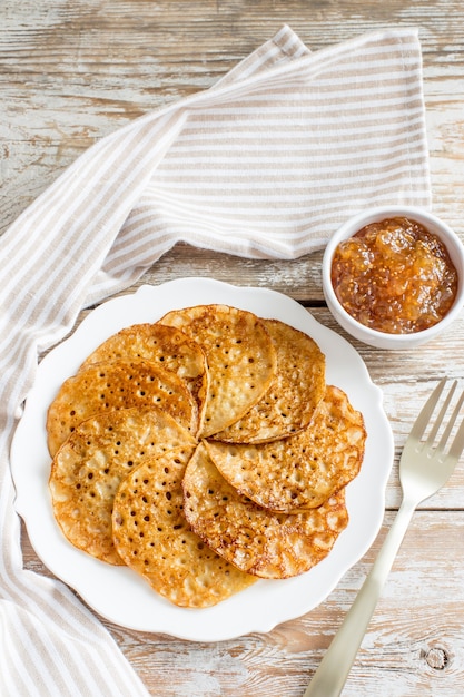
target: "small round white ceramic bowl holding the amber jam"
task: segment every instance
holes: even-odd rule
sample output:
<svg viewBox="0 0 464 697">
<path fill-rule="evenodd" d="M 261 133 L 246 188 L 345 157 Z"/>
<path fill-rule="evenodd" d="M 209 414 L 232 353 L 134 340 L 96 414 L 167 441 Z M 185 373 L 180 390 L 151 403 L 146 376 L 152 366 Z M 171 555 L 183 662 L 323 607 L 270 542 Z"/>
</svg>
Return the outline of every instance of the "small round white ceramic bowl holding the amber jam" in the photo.
<svg viewBox="0 0 464 697">
<path fill-rule="evenodd" d="M 445 244 L 457 271 L 457 294 L 452 308 L 441 322 L 422 332 L 415 332 L 413 334 L 387 334 L 364 326 L 354 320 L 340 305 L 332 285 L 332 259 L 338 243 L 352 237 L 365 225 L 388 217 L 408 217 L 424 225 L 424 227 L 440 237 Z M 369 208 L 349 218 L 349 220 L 342 225 L 329 239 L 323 259 L 323 288 L 327 306 L 332 314 L 337 320 L 338 324 L 355 338 L 371 346 L 376 346 L 377 348 L 414 348 L 434 338 L 448 327 L 464 306 L 464 247 L 461 239 L 451 227 L 423 208 L 416 208 L 414 206 L 383 206 Z"/>
</svg>

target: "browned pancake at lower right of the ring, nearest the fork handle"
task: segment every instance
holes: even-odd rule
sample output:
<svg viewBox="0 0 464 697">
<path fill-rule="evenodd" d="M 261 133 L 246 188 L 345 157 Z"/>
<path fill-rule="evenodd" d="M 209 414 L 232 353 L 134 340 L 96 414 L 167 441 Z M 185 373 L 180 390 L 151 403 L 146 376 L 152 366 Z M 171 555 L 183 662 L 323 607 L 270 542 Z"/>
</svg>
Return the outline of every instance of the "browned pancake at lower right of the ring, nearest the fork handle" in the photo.
<svg viewBox="0 0 464 697">
<path fill-rule="evenodd" d="M 200 444 L 184 478 L 191 529 L 227 561 L 260 578 L 308 571 L 334 547 L 348 522 L 344 490 L 305 513 L 272 513 L 237 494 Z"/>
</svg>

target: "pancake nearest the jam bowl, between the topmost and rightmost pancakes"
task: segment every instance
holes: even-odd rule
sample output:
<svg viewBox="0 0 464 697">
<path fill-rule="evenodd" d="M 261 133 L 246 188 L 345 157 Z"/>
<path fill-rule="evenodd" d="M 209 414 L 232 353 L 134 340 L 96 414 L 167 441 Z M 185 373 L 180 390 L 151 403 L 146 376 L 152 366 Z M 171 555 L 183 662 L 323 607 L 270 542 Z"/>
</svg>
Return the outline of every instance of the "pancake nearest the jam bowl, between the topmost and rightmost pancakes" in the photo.
<svg viewBox="0 0 464 697">
<path fill-rule="evenodd" d="M 277 353 L 264 397 L 228 429 L 214 435 L 229 443 L 266 443 L 305 429 L 325 394 L 325 355 L 304 332 L 264 320 Z"/>
</svg>

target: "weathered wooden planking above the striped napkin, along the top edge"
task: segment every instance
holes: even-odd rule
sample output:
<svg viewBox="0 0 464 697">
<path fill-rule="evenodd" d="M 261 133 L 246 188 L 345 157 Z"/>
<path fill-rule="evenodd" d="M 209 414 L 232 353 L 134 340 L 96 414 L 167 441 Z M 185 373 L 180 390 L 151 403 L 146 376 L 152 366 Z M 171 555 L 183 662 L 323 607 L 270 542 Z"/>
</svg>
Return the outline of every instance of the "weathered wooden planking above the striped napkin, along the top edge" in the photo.
<svg viewBox="0 0 464 697">
<path fill-rule="evenodd" d="M 309 11 L 303 0 L 270 8 L 264 1 L 121 7 L 101 0 L 53 0 L 47 10 L 32 0 L 6 0 L 3 7 L 0 232 L 98 138 L 209 87 L 284 22 L 314 49 L 384 26 L 419 27 L 434 196 L 437 210 L 462 229 L 462 204 L 455 196 L 450 205 L 463 187 L 456 163 L 463 130 L 460 2 L 448 2 L 446 12 L 441 2 L 418 12 L 398 1 L 388 3 L 388 12 L 355 1 L 343 8 L 316 3 Z"/>
</svg>

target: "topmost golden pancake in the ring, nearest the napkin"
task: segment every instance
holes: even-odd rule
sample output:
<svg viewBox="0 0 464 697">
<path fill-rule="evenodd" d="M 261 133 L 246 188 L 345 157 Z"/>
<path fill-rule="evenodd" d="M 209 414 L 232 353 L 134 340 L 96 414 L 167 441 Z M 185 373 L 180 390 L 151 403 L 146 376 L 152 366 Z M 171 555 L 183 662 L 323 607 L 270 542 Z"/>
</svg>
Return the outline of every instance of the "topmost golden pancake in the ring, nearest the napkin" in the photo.
<svg viewBox="0 0 464 697">
<path fill-rule="evenodd" d="M 255 314 L 228 305 L 197 305 L 174 310 L 160 323 L 181 330 L 206 353 L 209 391 L 203 436 L 238 421 L 268 390 L 276 352 Z"/>
</svg>

